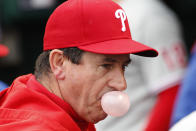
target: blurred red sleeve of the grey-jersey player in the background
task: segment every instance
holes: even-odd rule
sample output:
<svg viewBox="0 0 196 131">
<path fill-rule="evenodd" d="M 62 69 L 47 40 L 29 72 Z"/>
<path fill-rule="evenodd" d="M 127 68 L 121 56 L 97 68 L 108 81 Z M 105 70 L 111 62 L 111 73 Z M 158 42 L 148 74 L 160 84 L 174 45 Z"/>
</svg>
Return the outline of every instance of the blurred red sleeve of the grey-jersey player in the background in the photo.
<svg viewBox="0 0 196 131">
<path fill-rule="evenodd" d="M 144 131 L 168 131 L 178 88 L 176 85 L 158 95 Z"/>
</svg>

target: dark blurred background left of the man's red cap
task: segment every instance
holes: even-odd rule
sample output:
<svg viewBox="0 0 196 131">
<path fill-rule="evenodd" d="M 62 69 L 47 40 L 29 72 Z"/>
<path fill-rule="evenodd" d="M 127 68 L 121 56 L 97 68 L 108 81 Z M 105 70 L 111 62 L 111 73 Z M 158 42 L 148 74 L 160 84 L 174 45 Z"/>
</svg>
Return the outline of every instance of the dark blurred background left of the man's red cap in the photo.
<svg viewBox="0 0 196 131">
<path fill-rule="evenodd" d="M 1 40 L 10 50 L 0 61 L 0 80 L 10 85 L 17 76 L 33 72 L 42 51 L 45 23 L 60 1 L 0 0 Z"/>
</svg>

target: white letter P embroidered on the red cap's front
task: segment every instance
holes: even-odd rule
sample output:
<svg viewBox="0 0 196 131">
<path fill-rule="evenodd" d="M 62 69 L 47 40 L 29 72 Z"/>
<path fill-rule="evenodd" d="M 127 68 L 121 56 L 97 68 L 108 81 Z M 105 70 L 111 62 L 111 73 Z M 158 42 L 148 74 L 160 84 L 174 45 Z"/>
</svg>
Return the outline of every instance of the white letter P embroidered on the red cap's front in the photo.
<svg viewBox="0 0 196 131">
<path fill-rule="evenodd" d="M 118 9 L 115 12 L 115 16 L 116 18 L 120 18 L 121 19 L 121 23 L 122 23 L 122 31 L 125 32 L 126 31 L 126 27 L 125 27 L 125 20 L 126 20 L 126 14 L 122 9 Z"/>
</svg>

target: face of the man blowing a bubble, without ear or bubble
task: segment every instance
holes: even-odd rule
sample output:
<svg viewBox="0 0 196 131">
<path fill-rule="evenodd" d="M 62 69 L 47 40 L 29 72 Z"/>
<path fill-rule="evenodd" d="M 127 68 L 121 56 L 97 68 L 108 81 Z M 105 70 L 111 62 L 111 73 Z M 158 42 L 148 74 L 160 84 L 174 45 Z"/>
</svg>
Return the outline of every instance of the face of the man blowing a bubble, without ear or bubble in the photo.
<svg viewBox="0 0 196 131">
<path fill-rule="evenodd" d="M 126 89 L 124 69 L 129 55 L 102 55 L 85 52 L 80 64 L 67 61 L 66 78 L 61 82 L 62 97 L 84 120 L 97 123 L 107 115 L 101 97 L 109 91 Z"/>
</svg>

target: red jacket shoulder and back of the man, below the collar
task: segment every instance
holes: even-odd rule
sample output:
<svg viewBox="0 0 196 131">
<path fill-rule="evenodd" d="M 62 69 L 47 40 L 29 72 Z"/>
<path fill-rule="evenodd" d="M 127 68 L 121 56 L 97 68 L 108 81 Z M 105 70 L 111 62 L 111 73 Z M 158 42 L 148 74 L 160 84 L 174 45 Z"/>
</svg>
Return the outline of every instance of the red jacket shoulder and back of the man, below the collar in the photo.
<svg viewBox="0 0 196 131">
<path fill-rule="evenodd" d="M 19 78 L 0 93 L 0 130 L 78 131 L 77 124 L 66 111 L 46 95 L 27 88 L 28 79 Z"/>
</svg>

